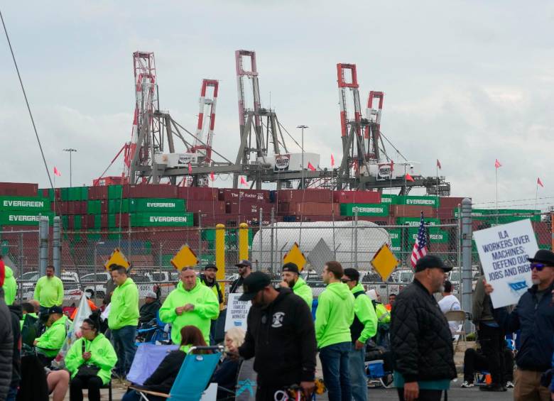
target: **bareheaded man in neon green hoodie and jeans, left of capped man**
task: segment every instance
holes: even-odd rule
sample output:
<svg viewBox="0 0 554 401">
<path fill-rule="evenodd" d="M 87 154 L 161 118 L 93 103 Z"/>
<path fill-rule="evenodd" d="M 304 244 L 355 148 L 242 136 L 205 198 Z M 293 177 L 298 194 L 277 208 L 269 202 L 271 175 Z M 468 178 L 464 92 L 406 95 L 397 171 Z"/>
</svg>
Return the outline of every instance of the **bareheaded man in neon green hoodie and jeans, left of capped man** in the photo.
<svg viewBox="0 0 554 401">
<path fill-rule="evenodd" d="M 340 263 L 325 263 L 321 277 L 327 288 L 318 297 L 315 311 L 315 339 L 330 401 L 352 399 L 349 353 L 350 325 L 354 322 L 354 295 L 341 282 L 343 274 Z"/>
</svg>

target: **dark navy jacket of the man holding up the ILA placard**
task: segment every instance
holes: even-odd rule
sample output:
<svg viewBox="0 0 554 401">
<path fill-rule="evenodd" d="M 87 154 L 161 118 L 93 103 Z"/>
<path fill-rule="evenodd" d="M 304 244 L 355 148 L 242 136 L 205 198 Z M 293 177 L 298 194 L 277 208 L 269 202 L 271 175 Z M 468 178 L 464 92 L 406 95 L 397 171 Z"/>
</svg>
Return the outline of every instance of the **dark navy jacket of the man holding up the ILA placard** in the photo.
<svg viewBox="0 0 554 401">
<path fill-rule="evenodd" d="M 521 330 L 521 347 L 516 355 L 518 368 L 543 372 L 550 369 L 554 338 L 554 285 L 545 291 L 541 302 L 537 298 L 537 286 L 521 295 L 511 313 L 508 309 L 494 309 L 494 319 L 506 331 Z"/>
</svg>

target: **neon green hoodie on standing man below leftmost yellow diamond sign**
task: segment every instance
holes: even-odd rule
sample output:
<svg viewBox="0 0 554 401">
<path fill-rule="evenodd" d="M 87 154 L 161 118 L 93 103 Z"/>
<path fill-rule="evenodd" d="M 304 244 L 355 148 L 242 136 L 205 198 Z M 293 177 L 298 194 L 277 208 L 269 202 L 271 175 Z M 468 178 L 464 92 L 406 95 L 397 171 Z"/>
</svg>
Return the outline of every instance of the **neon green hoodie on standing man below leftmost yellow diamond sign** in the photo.
<svg viewBox="0 0 554 401">
<path fill-rule="evenodd" d="M 131 278 L 118 285 L 109 307 L 108 326 L 112 330 L 139 324 L 139 289 Z"/>
</svg>

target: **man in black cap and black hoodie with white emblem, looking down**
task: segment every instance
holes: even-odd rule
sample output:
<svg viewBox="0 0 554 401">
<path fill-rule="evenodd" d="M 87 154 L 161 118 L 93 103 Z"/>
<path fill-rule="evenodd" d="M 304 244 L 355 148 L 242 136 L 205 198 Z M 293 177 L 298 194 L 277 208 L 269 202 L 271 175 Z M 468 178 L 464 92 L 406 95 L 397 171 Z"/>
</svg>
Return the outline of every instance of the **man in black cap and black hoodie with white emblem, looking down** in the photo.
<svg viewBox="0 0 554 401">
<path fill-rule="evenodd" d="M 306 303 L 288 288 L 278 290 L 271 278 L 253 272 L 244 279 L 241 301 L 251 301 L 244 344 L 227 344 L 245 359 L 256 357 L 256 400 L 273 400 L 292 385 L 300 385 L 306 399 L 315 387 L 315 331 Z"/>
</svg>

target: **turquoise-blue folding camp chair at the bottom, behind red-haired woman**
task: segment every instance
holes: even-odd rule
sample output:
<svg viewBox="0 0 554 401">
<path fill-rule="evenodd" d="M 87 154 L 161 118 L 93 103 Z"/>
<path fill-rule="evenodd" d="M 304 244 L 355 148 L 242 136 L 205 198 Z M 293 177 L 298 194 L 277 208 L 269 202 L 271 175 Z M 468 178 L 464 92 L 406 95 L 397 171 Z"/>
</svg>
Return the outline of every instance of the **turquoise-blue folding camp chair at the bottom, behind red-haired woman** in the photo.
<svg viewBox="0 0 554 401">
<path fill-rule="evenodd" d="M 193 353 L 195 350 L 212 351 L 213 353 L 195 354 Z M 191 347 L 169 394 L 144 390 L 134 386 L 130 388 L 139 392 L 141 400 L 145 401 L 148 401 L 148 395 L 156 395 L 172 401 L 200 401 L 202 393 L 210 383 L 210 378 L 214 374 L 222 352 L 222 346 Z"/>
</svg>

